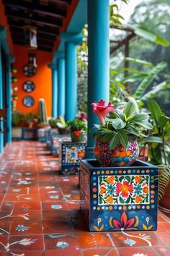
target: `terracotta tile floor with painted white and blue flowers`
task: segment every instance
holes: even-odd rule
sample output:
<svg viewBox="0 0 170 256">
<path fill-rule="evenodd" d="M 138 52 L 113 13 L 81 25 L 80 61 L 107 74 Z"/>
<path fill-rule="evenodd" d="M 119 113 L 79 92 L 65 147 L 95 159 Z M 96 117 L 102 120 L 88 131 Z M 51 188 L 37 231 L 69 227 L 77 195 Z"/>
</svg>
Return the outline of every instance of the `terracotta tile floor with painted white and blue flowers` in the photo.
<svg viewBox="0 0 170 256">
<path fill-rule="evenodd" d="M 170 255 L 170 219 L 158 231 L 89 233 L 78 176 L 58 174 L 40 142 L 13 142 L 0 157 L 0 256 Z"/>
</svg>

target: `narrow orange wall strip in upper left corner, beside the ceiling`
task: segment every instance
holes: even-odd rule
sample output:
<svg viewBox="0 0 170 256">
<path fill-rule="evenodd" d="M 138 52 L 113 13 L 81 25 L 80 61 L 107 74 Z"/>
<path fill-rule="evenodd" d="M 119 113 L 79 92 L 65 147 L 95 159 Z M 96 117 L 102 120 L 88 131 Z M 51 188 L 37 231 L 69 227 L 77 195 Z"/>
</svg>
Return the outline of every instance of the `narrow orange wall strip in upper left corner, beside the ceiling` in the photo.
<svg viewBox="0 0 170 256">
<path fill-rule="evenodd" d="M 6 27 L 7 41 L 9 43 L 11 53 L 13 54 L 13 44 L 12 44 L 11 33 L 10 33 L 9 25 L 8 25 L 8 22 L 7 22 L 7 19 L 6 19 L 6 16 L 5 16 L 4 5 L 2 4 L 1 0 L 0 0 L 0 25 Z"/>
</svg>

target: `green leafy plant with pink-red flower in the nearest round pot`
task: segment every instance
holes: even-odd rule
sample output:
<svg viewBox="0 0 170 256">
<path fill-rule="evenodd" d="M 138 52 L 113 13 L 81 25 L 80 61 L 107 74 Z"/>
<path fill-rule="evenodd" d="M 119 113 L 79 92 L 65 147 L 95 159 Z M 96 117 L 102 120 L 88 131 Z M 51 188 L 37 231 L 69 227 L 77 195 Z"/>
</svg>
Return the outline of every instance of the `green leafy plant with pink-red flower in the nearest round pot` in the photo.
<svg viewBox="0 0 170 256">
<path fill-rule="evenodd" d="M 135 103 L 129 101 L 125 108 L 114 109 L 112 103 L 104 106 L 104 101 L 92 103 L 93 112 L 99 117 L 101 124 L 95 124 L 97 132 L 94 136 L 102 137 L 102 142 L 110 142 L 109 149 L 112 150 L 121 142 L 124 148 L 127 148 L 128 137 L 136 140 L 137 137 L 145 137 L 143 130 L 152 129 L 148 122 L 148 114 L 139 113 Z M 107 116 L 107 114 L 109 116 Z M 107 116 L 107 117 L 106 117 Z"/>
</svg>

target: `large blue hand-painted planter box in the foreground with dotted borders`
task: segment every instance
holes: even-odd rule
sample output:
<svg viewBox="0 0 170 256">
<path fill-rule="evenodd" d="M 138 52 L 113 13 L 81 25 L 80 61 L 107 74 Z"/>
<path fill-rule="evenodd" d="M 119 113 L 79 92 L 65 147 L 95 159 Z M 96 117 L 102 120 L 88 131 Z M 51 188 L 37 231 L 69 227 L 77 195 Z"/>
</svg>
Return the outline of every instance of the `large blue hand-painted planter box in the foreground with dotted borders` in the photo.
<svg viewBox="0 0 170 256">
<path fill-rule="evenodd" d="M 143 161 L 128 167 L 80 164 L 81 212 L 89 231 L 157 228 L 158 168 Z"/>
</svg>

